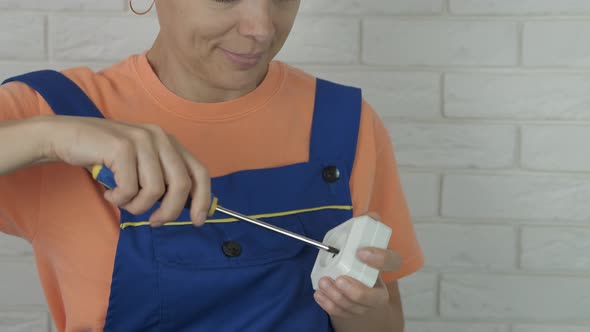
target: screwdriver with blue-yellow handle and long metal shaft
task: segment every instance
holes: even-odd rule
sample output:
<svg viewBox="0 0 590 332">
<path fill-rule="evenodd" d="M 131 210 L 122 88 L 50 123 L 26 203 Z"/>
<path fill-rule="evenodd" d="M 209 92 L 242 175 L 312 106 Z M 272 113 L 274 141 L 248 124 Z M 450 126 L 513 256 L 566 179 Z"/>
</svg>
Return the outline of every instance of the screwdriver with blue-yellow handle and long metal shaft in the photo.
<svg viewBox="0 0 590 332">
<path fill-rule="evenodd" d="M 114 189 L 117 186 L 117 184 L 115 182 L 115 176 L 114 176 L 113 172 L 108 167 L 106 167 L 106 166 L 103 166 L 103 165 L 95 165 L 94 167 L 92 167 L 92 177 L 95 180 L 97 180 L 98 182 L 102 183 L 105 187 L 107 187 L 109 189 Z M 321 250 L 325 250 L 325 251 L 327 251 L 329 253 L 332 253 L 334 255 L 337 255 L 338 253 L 340 253 L 340 250 L 337 249 L 337 248 L 334 248 L 334 247 L 329 246 L 329 245 L 326 245 L 326 244 L 324 244 L 322 242 L 319 242 L 319 241 L 316 241 L 316 240 L 307 238 L 307 237 L 305 237 L 303 235 L 299 235 L 297 233 L 293 233 L 291 231 L 288 231 L 286 229 L 280 228 L 278 226 L 271 225 L 271 224 L 266 223 L 264 221 L 260 221 L 258 219 L 250 218 L 250 217 L 245 216 L 245 215 L 243 215 L 241 213 L 238 213 L 238 212 L 235 212 L 235 211 L 226 209 L 226 208 L 222 207 L 221 205 L 217 204 L 217 202 L 218 202 L 217 197 L 215 197 L 215 196 L 212 195 L 211 206 L 209 208 L 209 216 L 212 216 L 215 211 L 219 211 L 219 212 L 221 212 L 221 213 L 223 213 L 225 215 L 234 217 L 234 218 L 236 218 L 238 220 L 245 221 L 245 222 L 254 224 L 256 226 L 260 226 L 260 227 L 266 228 L 266 229 L 271 230 L 273 232 L 276 232 L 276 233 L 279 233 L 279 234 L 282 234 L 282 235 L 286 235 L 286 236 L 291 237 L 293 239 L 302 241 L 302 242 L 304 242 L 304 243 L 306 243 L 308 245 L 314 246 L 314 247 L 316 247 L 318 249 L 321 249 Z M 191 199 L 190 199 L 190 197 L 187 199 L 184 207 L 186 209 L 190 210 L 190 207 L 191 207 Z"/>
</svg>

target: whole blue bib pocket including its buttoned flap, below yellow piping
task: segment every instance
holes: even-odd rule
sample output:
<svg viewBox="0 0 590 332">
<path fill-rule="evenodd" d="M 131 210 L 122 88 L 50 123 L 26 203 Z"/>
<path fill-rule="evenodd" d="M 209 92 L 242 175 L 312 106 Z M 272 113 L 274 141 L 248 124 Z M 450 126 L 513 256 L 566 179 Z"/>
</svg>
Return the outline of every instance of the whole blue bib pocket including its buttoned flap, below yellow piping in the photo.
<svg viewBox="0 0 590 332">
<path fill-rule="evenodd" d="M 297 215 L 264 221 L 305 235 Z M 163 226 L 153 245 L 163 331 L 274 331 L 313 300 L 317 249 L 256 225 Z"/>
</svg>

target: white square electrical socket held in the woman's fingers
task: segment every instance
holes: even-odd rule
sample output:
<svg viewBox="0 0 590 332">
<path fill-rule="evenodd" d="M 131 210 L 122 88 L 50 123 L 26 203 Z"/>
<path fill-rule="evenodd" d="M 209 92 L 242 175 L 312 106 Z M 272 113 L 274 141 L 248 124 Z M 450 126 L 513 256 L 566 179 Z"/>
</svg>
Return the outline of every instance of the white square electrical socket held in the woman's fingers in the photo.
<svg viewBox="0 0 590 332">
<path fill-rule="evenodd" d="M 385 249 L 390 237 L 391 228 L 369 216 L 349 219 L 331 229 L 323 243 L 340 249 L 340 253 L 334 255 L 320 250 L 311 271 L 313 289 L 318 289 L 322 277 L 336 279 L 342 275 L 357 279 L 367 287 L 375 286 L 379 270 L 357 259 L 356 252 L 365 247 Z"/>
</svg>

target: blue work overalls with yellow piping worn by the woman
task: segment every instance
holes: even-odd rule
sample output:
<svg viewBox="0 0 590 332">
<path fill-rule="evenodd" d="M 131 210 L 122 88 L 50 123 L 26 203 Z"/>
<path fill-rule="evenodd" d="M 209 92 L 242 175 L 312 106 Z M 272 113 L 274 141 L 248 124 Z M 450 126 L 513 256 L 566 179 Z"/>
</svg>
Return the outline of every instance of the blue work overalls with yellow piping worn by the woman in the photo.
<svg viewBox="0 0 590 332">
<path fill-rule="evenodd" d="M 57 72 L 8 81 L 37 90 L 58 115 L 102 117 Z M 228 209 L 321 241 L 352 217 L 360 113 L 360 90 L 317 80 L 309 161 L 213 178 L 212 192 Z M 105 331 L 332 331 L 313 298 L 318 249 L 220 213 L 197 228 L 185 209 L 151 228 L 158 205 L 141 215 L 121 209 Z"/>
</svg>

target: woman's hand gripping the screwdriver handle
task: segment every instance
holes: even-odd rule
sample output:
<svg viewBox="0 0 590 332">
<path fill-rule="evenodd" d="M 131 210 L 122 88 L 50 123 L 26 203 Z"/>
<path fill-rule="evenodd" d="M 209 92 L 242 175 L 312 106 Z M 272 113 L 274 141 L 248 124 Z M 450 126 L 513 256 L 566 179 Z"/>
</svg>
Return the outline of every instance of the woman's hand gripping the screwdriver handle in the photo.
<svg viewBox="0 0 590 332">
<path fill-rule="evenodd" d="M 190 216 L 202 225 L 210 203 L 211 180 L 206 167 L 176 139 L 152 124 L 105 119 L 50 116 L 46 159 L 91 167 L 104 164 L 117 187 L 105 198 L 132 214 L 141 214 L 162 199 L 150 216 L 152 226 L 175 220 L 188 195 Z"/>
</svg>

